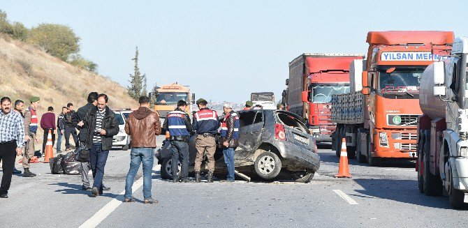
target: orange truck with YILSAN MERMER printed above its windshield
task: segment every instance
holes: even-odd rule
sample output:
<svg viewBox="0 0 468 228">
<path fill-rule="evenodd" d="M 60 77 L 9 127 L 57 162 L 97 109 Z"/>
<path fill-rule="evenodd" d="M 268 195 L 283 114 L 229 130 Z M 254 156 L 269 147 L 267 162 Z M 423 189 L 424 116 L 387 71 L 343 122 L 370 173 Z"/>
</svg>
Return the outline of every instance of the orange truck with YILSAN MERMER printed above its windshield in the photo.
<svg viewBox="0 0 468 228">
<path fill-rule="evenodd" d="M 332 97 L 332 149 L 339 156 L 344 137 L 348 156 L 358 162 L 415 159 L 421 76 L 447 58 L 453 32 L 370 31 L 367 43 L 366 63 L 351 63 L 353 89 Z"/>
</svg>

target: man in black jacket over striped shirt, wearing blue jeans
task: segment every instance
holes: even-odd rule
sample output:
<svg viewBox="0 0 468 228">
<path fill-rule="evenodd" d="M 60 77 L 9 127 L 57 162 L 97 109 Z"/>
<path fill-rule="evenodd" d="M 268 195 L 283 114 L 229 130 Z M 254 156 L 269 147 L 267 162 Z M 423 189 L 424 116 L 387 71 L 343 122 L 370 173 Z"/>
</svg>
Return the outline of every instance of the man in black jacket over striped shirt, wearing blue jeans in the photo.
<svg viewBox="0 0 468 228">
<path fill-rule="evenodd" d="M 91 197 L 103 194 L 105 162 L 107 162 L 109 150 L 112 148 L 112 137 L 119 133 L 115 112 L 107 106 L 108 96 L 101 93 L 97 101 L 97 107 L 91 107 L 89 114 L 86 114 L 83 120 L 84 127 L 89 130 L 87 144 L 92 145 L 89 153 L 89 163 L 94 178 Z"/>
</svg>

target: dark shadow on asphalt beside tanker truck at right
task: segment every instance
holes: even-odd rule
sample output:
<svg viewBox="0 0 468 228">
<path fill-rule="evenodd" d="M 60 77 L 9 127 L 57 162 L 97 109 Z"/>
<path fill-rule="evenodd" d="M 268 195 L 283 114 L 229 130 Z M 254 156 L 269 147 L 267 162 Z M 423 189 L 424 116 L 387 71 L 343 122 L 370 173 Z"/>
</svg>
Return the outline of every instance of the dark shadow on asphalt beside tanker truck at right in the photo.
<svg viewBox="0 0 468 228">
<path fill-rule="evenodd" d="M 355 197 L 390 199 L 396 202 L 450 209 L 447 197 L 428 197 L 418 191 L 418 181 L 393 179 L 354 179 L 364 190 Z"/>
</svg>

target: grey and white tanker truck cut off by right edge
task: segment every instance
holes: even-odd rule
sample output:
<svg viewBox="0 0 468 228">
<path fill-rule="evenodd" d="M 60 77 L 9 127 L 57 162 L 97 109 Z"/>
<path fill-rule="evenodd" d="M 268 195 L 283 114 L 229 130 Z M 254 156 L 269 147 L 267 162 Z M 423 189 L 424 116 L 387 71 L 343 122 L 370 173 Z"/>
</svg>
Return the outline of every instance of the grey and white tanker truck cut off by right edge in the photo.
<svg viewBox="0 0 468 228">
<path fill-rule="evenodd" d="M 428 66 L 421 78 L 418 118 L 418 188 L 448 195 L 463 208 L 468 193 L 468 37 L 456 38 L 450 59 Z"/>
</svg>

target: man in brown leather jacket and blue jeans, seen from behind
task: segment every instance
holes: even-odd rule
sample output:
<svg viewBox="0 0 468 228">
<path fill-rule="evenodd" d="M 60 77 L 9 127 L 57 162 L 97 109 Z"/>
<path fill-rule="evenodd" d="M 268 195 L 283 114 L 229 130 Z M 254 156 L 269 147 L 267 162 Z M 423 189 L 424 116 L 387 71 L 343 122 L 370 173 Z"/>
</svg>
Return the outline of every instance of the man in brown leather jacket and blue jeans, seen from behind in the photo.
<svg viewBox="0 0 468 228">
<path fill-rule="evenodd" d="M 125 132 L 131 136 L 130 169 L 126 175 L 124 202 L 135 202 L 131 187 L 136 172 L 143 164 L 143 197 L 145 204 L 157 204 L 152 198 L 151 177 L 154 163 L 154 149 L 156 148 L 156 135 L 161 135 L 159 114 L 149 109 L 149 98 L 141 96 L 138 99 L 140 107 L 129 114 L 125 121 Z"/>
</svg>

